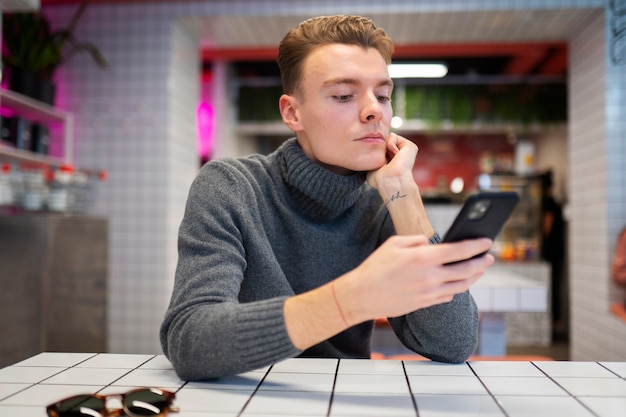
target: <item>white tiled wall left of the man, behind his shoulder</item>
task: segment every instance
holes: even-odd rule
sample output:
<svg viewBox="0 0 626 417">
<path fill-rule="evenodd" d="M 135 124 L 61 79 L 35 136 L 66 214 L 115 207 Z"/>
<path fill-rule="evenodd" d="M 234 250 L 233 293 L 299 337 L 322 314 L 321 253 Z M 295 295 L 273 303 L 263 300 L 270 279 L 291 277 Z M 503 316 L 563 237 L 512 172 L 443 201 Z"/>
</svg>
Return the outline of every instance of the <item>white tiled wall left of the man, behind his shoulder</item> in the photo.
<svg viewBox="0 0 626 417">
<path fill-rule="evenodd" d="M 178 6 L 90 6 L 80 36 L 107 71 L 77 55 L 59 73 L 59 106 L 77 114 L 76 161 L 108 172 L 95 211 L 110 218 L 109 350 L 160 352 L 176 234 L 198 168 L 198 42 Z M 69 8 L 73 9 L 73 8 Z M 50 8 L 61 22 L 68 8 Z"/>
</svg>

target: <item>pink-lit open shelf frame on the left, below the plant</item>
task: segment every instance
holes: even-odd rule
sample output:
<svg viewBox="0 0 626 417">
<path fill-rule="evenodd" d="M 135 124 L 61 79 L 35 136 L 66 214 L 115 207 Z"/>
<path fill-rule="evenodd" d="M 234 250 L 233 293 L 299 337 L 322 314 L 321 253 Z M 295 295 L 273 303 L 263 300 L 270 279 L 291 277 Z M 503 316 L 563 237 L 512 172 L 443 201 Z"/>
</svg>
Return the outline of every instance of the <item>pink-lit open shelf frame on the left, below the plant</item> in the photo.
<svg viewBox="0 0 626 417">
<path fill-rule="evenodd" d="M 72 163 L 74 153 L 74 116 L 46 103 L 10 90 L 0 89 L 0 108 L 3 115 L 18 116 L 34 123 L 45 125 L 63 125 L 63 157 L 55 158 L 33 152 L 0 145 L 0 159 L 11 162 L 35 162 L 43 165 L 58 166 Z"/>
</svg>

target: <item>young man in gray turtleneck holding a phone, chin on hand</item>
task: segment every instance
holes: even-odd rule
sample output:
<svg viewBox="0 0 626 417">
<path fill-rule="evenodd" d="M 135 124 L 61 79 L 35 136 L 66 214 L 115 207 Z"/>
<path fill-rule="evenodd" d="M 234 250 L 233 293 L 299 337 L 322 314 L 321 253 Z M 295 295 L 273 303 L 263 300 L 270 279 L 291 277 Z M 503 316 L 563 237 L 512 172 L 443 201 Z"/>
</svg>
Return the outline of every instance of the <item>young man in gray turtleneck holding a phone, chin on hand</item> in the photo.
<svg viewBox="0 0 626 417">
<path fill-rule="evenodd" d="M 390 133 L 393 45 L 358 16 L 283 39 L 284 123 L 269 156 L 216 160 L 194 181 L 161 343 L 197 380 L 294 356 L 368 358 L 373 320 L 428 358 L 476 347 L 469 287 L 491 241 L 439 243 L 412 176 L 417 146 Z"/>
</svg>

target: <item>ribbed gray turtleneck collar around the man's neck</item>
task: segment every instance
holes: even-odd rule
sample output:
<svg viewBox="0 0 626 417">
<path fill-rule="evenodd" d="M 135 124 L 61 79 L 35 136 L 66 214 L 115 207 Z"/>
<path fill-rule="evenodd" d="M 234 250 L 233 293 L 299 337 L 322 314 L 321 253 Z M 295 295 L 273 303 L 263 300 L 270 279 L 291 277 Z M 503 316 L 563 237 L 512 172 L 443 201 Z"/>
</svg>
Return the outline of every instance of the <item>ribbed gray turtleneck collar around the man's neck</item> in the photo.
<svg viewBox="0 0 626 417">
<path fill-rule="evenodd" d="M 316 220 L 332 220 L 352 207 L 365 183 L 365 173 L 339 175 L 313 162 L 295 138 L 281 146 L 277 157 L 295 203 Z"/>
</svg>

